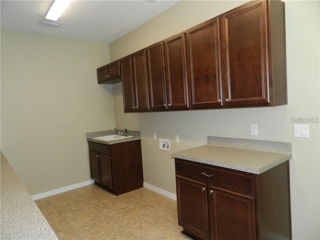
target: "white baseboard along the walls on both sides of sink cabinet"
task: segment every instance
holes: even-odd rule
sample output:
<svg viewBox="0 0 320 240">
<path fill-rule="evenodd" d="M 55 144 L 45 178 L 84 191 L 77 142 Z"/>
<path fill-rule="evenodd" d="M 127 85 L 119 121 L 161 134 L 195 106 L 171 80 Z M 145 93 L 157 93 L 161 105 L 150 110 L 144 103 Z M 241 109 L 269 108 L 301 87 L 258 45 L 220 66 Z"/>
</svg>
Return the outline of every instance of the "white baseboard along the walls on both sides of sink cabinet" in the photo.
<svg viewBox="0 0 320 240">
<path fill-rule="evenodd" d="M 58 194 L 58 193 L 61 193 L 61 192 L 73 190 L 73 189 L 76 189 L 76 188 L 79 188 L 79 187 L 82 187 L 82 186 L 87 186 L 87 185 L 93 184 L 93 182 L 94 182 L 94 180 L 83 181 L 83 182 L 76 183 L 76 184 L 73 184 L 73 185 L 64 186 L 64 187 L 61 187 L 61 188 L 58 188 L 58 189 L 54 189 L 54 190 L 51 190 L 51 191 L 46 191 L 46 192 L 42 192 L 42 193 L 39 193 L 39 194 L 35 194 L 35 195 L 32 195 L 31 197 L 32 197 L 33 200 L 38 200 L 38 199 L 41 199 L 41 198 L 44 198 L 44 197 L 47 197 L 47 196 L 52 196 L 52 195 L 55 195 L 55 194 Z M 153 186 L 153 185 L 151 185 L 149 183 L 146 183 L 146 182 L 143 182 L 143 186 L 145 188 L 147 188 L 147 189 L 155 191 L 155 192 L 157 192 L 157 193 L 159 193 L 161 195 L 164 195 L 164 196 L 176 201 L 176 194 L 174 194 L 172 192 L 163 190 L 162 188 Z"/>
</svg>

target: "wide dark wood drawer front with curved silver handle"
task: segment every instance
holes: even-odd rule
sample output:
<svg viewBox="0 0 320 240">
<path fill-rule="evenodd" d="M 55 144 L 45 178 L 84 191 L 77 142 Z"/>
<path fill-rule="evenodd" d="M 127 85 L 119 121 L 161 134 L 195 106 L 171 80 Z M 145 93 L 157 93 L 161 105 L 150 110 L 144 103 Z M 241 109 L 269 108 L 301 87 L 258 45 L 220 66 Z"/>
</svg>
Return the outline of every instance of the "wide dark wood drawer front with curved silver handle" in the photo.
<svg viewBox="0 0 320 240">
<path fill-rule="evenodd" d="M 236 192 L 254 194 L 254 175 L 251 173 L 242 173 L 178 158 L 175 158 L 175 172 L 177 175 L 199 179 Z"/>
</svg>

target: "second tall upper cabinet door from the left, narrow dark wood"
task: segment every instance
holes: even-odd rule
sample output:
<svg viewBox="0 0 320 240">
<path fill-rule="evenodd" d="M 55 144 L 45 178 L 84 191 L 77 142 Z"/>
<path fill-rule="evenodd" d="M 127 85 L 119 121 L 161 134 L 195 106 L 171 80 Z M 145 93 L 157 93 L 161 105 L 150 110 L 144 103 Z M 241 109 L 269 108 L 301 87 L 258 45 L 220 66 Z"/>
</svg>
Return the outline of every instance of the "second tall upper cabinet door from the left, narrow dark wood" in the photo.
<svg viewBox="0 0 320 240">
<path fill-rule="evenodd" d="M 145 49 L 132 54 L 135 110 L 150 110 Z"/>
</svg>

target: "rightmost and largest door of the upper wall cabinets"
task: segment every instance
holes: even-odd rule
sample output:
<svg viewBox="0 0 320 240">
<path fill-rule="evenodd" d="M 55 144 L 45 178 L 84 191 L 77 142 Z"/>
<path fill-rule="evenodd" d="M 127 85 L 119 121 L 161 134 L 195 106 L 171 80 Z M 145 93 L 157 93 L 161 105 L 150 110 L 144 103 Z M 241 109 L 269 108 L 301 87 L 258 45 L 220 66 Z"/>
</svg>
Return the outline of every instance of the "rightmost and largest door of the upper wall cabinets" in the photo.
<svg viewBox="0 0 320 240">
<path fill-rule="evenodd" d="M 221 17 L 223 100 L 227 106 L 270 102 L 267 23 L 266 1 L 244 4 Z"/>
</svg>

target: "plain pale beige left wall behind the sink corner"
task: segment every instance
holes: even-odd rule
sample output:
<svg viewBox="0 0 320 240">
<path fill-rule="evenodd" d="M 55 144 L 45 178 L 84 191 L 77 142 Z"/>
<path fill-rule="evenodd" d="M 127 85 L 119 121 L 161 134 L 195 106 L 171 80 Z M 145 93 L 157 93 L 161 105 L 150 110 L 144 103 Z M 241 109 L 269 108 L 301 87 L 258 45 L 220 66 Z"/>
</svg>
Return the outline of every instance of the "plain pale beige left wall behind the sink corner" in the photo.
<svg viewBox="0 0 320 240">
<path fill-rule="evenodd" d="M 28 192 L 90 179 L 85 132 L 114 127 L 106 44 L 1 29 L 1 150 Z"/>
</svg>

